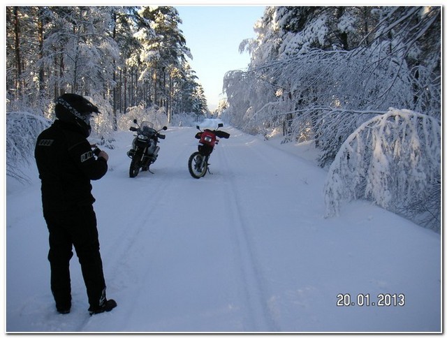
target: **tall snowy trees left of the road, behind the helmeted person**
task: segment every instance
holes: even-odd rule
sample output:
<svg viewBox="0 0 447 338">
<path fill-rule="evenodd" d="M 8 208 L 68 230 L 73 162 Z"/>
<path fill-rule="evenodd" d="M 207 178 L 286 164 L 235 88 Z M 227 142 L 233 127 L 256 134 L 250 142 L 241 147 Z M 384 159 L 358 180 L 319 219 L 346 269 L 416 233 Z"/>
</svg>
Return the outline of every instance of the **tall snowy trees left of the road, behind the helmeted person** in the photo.
<svg viewBox="0 0 447 338">
<path fill-rule="evenodd" d="M 203 100 L 195 92 L 193 71 L 186 68 L 185 58 L 192 56 L 179 22 L 173 7 L 7 6 L 6 110 L 26 112 L 20 121 L 36 126 L 31 133 L 19 128 L 19 119 L 6 119 L 7 174 L 22 177 L 15 163 L 34 154 L 31 143 L 13 131 L 36 138 L 44 124 L 34 119 L 54 119 L 54 99 L 65 92 L 86 96 L 101 110 L 92 121 L 91 138 L 105 146 L 112 146 L 110 132 L 126 112 L 170 116 L 173 108 L 182 112 L 180 101 Z M 154 64 L 148 62 L 151 57 Z M 191 90 L 182 91 L 188 85 Z M 206 102 L 200 102 L 203 108 Z"/>
</svg>

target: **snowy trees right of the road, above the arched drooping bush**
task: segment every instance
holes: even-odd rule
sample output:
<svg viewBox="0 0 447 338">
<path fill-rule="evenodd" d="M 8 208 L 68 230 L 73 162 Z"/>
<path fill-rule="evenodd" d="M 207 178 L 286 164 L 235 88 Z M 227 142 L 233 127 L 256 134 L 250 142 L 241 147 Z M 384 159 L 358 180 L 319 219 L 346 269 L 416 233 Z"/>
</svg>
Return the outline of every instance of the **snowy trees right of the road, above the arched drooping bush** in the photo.
<svg viewBox="0 0 447 338">
<path fill-rule="evenodd" d="M 225 116 L 251 133 L 315 140 L 321 166 L 376 111 L 439 118 L 440 22 L 439 7 L 266 8 L 258 37 L 241 44 L 249 68 L 224 78 Z"/>
</svg>

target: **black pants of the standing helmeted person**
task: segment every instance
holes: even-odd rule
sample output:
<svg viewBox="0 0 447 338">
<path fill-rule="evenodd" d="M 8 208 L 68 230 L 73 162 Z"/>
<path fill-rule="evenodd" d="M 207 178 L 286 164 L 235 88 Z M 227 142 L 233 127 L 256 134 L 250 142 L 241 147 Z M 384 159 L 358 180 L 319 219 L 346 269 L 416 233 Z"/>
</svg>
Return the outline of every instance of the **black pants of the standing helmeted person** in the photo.
<svg viewBox="0 0 447 338">
<path fill-rule="evenodd" d="M 50 233 L 48 260 L 51 268 L 51 291 L 57 309 L 70 309 L 70 259 L 75 247 L 87 288 L 90 307 L 98 307 L 105 297 L 103 263 L 99 253 L 96 214 L 92 205 L 71 210 L 43 212 Z"/>
</svg>

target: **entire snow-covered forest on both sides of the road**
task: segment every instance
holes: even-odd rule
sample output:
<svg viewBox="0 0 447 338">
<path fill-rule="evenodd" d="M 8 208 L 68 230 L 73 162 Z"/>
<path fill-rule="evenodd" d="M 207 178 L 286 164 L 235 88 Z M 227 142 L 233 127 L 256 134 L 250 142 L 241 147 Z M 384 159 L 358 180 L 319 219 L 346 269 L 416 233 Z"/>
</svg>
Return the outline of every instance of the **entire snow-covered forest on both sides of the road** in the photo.
<svg viewBox="0 0 447 338">
<path fill-rule="evenodd" d="M 65 92 L 107 112 L 95 125 L 106 143 L 129 116 L 210 115 L 181 22 L 172 6 L 7 6 L 6 175 L 26 180 Z M 440 231 L 441 7 L 268 6 L 254 31 L 214 116 L 313 142 L 326 216 L 363 198 Z"/>
</svg>

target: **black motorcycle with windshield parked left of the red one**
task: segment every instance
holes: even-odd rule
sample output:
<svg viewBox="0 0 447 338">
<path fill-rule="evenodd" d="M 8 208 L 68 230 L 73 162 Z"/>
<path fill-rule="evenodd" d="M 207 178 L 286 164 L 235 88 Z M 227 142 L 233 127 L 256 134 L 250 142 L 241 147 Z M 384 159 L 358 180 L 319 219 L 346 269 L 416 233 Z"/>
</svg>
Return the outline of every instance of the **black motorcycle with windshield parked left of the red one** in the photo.
<svg viewBox="0 0 447 338">
<path fill-rule="evenodd" d="M 137 120 L 134 119 L 133 123 L 138 127 L 135 128 L 131 126 L 129 128 L 130 131 L 136 131 L 137 135 L 132 142 L 132 149 L 127 152 L 127 156 L 129 156 L 131 161 L 131 166 L 129 168 L 129 176 L 136 177 L 140 169 L 142 171 L 149 171 L 152 174 L 151 170 L 149 170 L 149 166 L 154 163 L 159 156 L 160 147 L 157 145 L 159 142 L 159 138 L 164 140 L 166 135 L 159 133 L 160 131 L 166 131 L 168 129 L 166 126 L 163 126 L 159 131 L 154 129 L 154 124 L 151 122 L 143 121 L 140 125 L 138 125 Z"/>
</svg>

